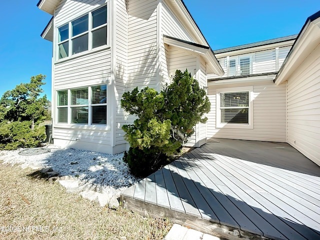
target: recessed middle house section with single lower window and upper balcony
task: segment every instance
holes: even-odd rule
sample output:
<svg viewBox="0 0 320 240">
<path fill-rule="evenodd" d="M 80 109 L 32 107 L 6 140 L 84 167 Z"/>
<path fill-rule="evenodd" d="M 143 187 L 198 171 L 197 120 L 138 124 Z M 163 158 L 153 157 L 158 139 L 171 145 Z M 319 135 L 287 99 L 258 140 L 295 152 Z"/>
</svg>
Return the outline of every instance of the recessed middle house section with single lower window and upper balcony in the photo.
<svg viewBox="0 0 320 240">
<path fill-rule="evenodd" d="M 273 83 L 296 35 L 215 50 L 224 75 L 208 76 L 207 136 L 286 141 L 285 84 Z"/>
</svg>

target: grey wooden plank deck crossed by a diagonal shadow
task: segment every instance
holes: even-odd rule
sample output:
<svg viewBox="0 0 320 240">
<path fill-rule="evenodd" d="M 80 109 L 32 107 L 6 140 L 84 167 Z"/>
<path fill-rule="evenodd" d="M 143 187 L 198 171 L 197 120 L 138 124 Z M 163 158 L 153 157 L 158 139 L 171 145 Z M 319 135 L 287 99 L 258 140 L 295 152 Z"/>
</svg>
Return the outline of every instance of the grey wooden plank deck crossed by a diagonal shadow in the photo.
<svg viewBox="0 0 320 240">
<path fill-rule="evenodd" d="M 212 139 L 121 197 L 229 239 L 320 239 L 320 167 L 286 143 Z"/>
</svg>

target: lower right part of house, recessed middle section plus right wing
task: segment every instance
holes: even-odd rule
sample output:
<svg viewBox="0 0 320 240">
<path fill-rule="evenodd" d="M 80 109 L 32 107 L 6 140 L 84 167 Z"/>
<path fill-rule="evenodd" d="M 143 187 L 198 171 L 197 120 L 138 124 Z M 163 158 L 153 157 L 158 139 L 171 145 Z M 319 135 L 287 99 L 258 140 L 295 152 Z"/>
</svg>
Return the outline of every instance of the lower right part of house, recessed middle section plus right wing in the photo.
<svg viewBox="0 0 320 240">
<path fill-rule="evenodd" d="M 215 50 L 207 136 L 287 142 L 320 165 L 320 11 L 298 35 Z"/>
</svg>

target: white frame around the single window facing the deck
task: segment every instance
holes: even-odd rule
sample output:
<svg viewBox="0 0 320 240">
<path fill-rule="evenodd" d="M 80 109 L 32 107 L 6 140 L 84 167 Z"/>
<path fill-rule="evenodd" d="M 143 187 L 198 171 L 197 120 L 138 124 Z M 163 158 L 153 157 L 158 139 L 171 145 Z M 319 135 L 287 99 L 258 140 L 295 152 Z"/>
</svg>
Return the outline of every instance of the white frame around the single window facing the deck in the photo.
<svg viewBox="0 0 320 240">
<path fill-rule="evenodd" d="M 222 92 L 249 92 L 249 107 L 248 107 L 248 123 L 224 123 L 221 122 L 221 109 L 220 109 L 220 93 Z M 215 127 L 216 128 L 246 128 L 253 129 L 253 86 L 242 87 L 228 87 L 216 89 L 216 114 L 215 114 Z"/>
</svg>

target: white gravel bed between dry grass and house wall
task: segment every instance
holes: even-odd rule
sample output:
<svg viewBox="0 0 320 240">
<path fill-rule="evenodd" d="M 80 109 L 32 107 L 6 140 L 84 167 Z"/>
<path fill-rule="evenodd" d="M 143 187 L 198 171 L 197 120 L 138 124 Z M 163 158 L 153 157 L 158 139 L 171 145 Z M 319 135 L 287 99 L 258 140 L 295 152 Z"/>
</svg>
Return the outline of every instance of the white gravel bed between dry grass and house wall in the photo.
<svg viewBox="0 0 320 240">
<path fill-rule="evenodd" d="M 11 165 L 25 167 L 52 167 L 60 176 L 77 177 L 81 184 L 90 183 L 101 193 L 119 196 L 138 178 L 130 174 L 127 164 L 122 160 L 123 153 L 106 154 L 94 151 L 63 148 L 49 145 L 48 153 L 20 155 L 18 150 L 0 151 L 0 160 Z"/>
</svg>

